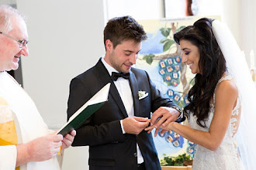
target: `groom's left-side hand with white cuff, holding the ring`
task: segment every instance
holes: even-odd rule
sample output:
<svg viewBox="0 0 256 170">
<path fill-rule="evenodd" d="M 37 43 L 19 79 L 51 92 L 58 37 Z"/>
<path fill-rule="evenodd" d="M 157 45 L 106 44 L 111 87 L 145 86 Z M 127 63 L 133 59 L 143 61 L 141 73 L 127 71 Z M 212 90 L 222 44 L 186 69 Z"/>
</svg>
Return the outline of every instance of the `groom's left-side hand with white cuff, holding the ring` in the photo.
<svg viewBox="0 0 256 170">
<path fill-rule="evenodd" d="M 126 134 L 140 134 L 148 126 L 148 118 L 127 117 L 123 119 L 123 130 Z"/>
</svg>

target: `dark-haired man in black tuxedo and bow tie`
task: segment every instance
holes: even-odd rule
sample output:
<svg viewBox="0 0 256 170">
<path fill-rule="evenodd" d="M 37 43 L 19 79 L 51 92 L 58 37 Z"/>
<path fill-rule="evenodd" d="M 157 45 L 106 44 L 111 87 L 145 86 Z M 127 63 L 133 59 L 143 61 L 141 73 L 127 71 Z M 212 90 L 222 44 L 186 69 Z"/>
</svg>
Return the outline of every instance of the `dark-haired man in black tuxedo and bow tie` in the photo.
<svg viewBox="0 0 256 170">
<path fill-rule="evenodd" d="M 182 119 L 180 108 L 163 97 L 144 70 L 133 68 L 146 32 L 130 16 L 110 19 L 104 29 L 106 55 L 71 80 L 67 117 L 106 83 L 109 100 L 77 130 L 73 146 L 89 145 L 90 169 L 161 169 L 148 126 L 150 112 L 164 121 Z"/>
</svg>

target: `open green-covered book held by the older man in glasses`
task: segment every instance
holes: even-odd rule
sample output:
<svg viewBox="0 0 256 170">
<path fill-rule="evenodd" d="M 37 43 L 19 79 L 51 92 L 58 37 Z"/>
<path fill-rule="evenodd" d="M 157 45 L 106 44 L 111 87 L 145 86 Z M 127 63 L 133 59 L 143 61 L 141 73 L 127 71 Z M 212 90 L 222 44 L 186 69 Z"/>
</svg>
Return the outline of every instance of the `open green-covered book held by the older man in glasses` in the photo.
<svg viewBox="0 0 256 170">
<path fill-rule="evenodd" d="M 56 134 L 62 134 L 65 136 L 72 130 L 77 129 L 88 117 L 95 113 L 99 107 L 102 107 L 106 103 L 109 97 L 110 83 L 107 83 L 105 87 L 102 87 L 98 93 L 88 100 L 82 107 L 80 107 L 67 121 L 67 124 L 57 131 Z"/>
</svg>

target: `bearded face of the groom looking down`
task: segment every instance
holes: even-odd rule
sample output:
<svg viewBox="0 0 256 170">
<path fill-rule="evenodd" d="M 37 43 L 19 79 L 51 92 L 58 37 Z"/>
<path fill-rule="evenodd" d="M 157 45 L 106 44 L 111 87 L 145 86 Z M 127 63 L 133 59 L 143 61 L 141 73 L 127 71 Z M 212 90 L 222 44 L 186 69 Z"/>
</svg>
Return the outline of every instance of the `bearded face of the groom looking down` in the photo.
<svg viewBox="0 0 256 170">
<path fill-rule="evenodd" d="M 117 71 L 128 73 L 131 66 L 136 64 L 140 49 L 141 42 L 136 43 L 133 40 L 123 41 L 116 48 L 113 48 L 113 46 L 109 48 L 109 57 L 106 59 L 106 62 Z"/>
</svg>

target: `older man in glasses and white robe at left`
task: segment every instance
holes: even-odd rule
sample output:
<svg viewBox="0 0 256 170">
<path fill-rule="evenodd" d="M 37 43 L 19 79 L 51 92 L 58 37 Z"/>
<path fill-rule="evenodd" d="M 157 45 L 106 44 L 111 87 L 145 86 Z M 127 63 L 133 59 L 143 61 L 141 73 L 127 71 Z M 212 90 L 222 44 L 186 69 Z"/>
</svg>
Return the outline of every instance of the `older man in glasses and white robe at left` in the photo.
<svg viewBox="0 0 256 170">
<path fill-rule="evenodd" d="M 68 148 L 75 131 L 63 137 L 47 128 L 36 105 L 6 71 L 17 70 L 28 56 L 26 19 L 0 5 L 0 169 L 60 169 L 56 155 Z"/>
</svg>

